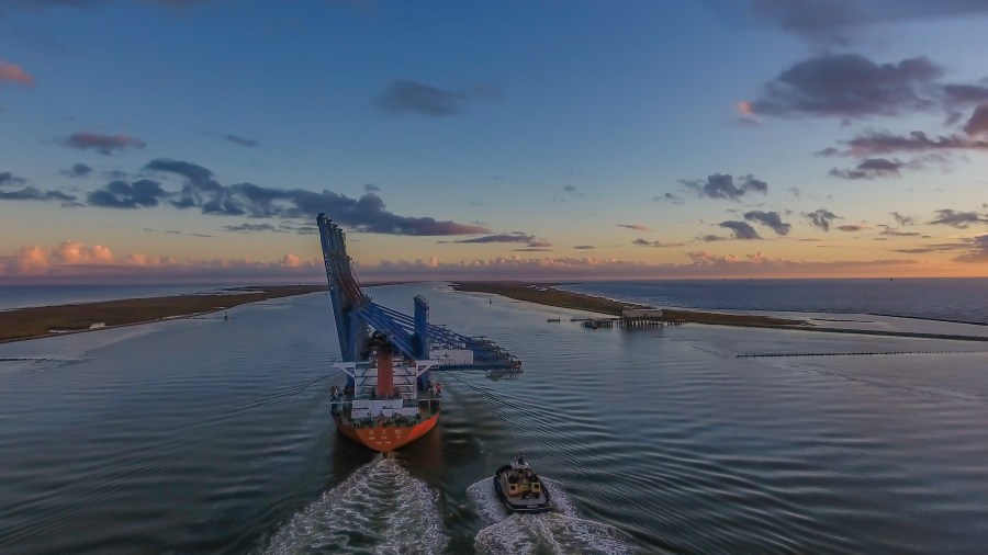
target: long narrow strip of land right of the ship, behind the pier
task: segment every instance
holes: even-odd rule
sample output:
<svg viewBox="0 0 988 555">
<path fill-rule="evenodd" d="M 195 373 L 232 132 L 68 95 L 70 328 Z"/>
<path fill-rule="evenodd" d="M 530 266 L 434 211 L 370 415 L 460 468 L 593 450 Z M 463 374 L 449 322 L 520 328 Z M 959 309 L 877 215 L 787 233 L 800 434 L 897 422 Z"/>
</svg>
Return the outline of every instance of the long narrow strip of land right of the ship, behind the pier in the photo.
<svg viewBox="0 0 988 555">
<path fill-rule="evenodd" d="M 573 310 L 585 310 L 607 316 L 620 316 L 625 308 L 656 308 L 636 303 L 622 303 L 610 298 L 584 295 L 555 288 L 562 283 L 529 283 L 529 282 L 450 282 L 454 291 L 464 293 L 486 293 L 499 295 L 515 301 L 534 303 Z M 708 326 L 737 326 L 745 328 L 773 328 L 800 331 L 826 331 L 831 333 L 852 333 L 862 336 L 894 336 L 911 337 L 919 339 L 950 339 L 959 341 L 988 341 L 984 336 L 963 336 L 944 333 L 923 333 L 914 331 L 888 331 L 869 329 L 850 329 L 820 327 L 808 320 L 796 320 L 761 316 L 754 314 L 721 314 L 700 310 L 684 310 L 663 308 L 663 316 L 671 321 L 684 324 L 704 324 Z"/>
</svg>

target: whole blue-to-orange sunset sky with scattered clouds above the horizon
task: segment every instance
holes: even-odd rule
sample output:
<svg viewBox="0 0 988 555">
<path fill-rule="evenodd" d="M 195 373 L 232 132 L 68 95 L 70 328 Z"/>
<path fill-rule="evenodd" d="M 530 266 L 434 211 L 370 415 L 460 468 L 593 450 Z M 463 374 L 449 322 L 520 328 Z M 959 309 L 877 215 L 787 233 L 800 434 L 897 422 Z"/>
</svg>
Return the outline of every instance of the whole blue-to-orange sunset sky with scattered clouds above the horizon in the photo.
<svg viewBox="0 0 988 555">
<path fill-rule="evenodd" d="M 988 276 L 985 0 L 0 0 L 0 284 Z"/>
</svg>

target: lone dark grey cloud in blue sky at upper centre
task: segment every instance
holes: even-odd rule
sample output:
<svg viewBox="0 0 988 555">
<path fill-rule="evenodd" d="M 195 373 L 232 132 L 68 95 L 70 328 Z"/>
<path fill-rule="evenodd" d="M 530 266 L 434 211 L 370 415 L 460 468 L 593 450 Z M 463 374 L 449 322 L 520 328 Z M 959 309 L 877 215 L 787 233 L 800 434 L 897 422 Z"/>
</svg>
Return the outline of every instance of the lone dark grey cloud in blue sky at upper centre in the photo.
<svg viewBox="0 0 988 555">
<path fill-rule="evenodd" d="M 475 86 L 470 90 L 447 90 L 431 84 L 395 79 L 375 100 L 385 112 L 411 113 L 428 117 L 445 117 L 462 112 L 463 104 L 474 99 L 498 98 L 501 90 L 490 86 Z"/>
</svg>

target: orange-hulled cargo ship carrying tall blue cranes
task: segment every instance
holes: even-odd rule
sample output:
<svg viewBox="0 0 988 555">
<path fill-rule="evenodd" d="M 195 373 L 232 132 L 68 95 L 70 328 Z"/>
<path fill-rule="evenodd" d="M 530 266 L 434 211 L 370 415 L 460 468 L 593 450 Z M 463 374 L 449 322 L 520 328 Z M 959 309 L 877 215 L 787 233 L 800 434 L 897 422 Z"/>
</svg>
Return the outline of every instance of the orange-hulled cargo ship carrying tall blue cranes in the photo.
<svg viewBox="0 0 988 555">
<path fill-rule="evenodd" d="M 330 390 L 330 412 L 344 435 L 375 451 L 392 451 L 436 427 L 442 406 L 438 371 L 521 373 L 521 362 L 483 337 L 429 324 L 429 305 L 414 298 L 407 316 L 375 304 L 353 276 L 346 236 L 324 214 L 316 218 L 343 362 L 343 389 Z M 373 330 L 373 331 L 371 331 Z"/>
</svg>

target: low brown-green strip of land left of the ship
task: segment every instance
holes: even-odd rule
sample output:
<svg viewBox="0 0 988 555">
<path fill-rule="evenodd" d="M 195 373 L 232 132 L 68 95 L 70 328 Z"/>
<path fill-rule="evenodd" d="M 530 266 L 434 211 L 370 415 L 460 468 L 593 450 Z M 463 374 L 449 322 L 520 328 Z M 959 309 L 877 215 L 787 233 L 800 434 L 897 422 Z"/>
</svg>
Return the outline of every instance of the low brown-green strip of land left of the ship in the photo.
<svg viewBox="0 0 988 555">
<path fill-rule="evenodd" d="M 126 298 L 0 312 L 0 343 L 154 321 L 204 317 L 239 305 L 327 291 L 326 285 L 259 285 L 220 293 Z M 55 330 L 55 331 L 53 331 Z"/>
</svg>

